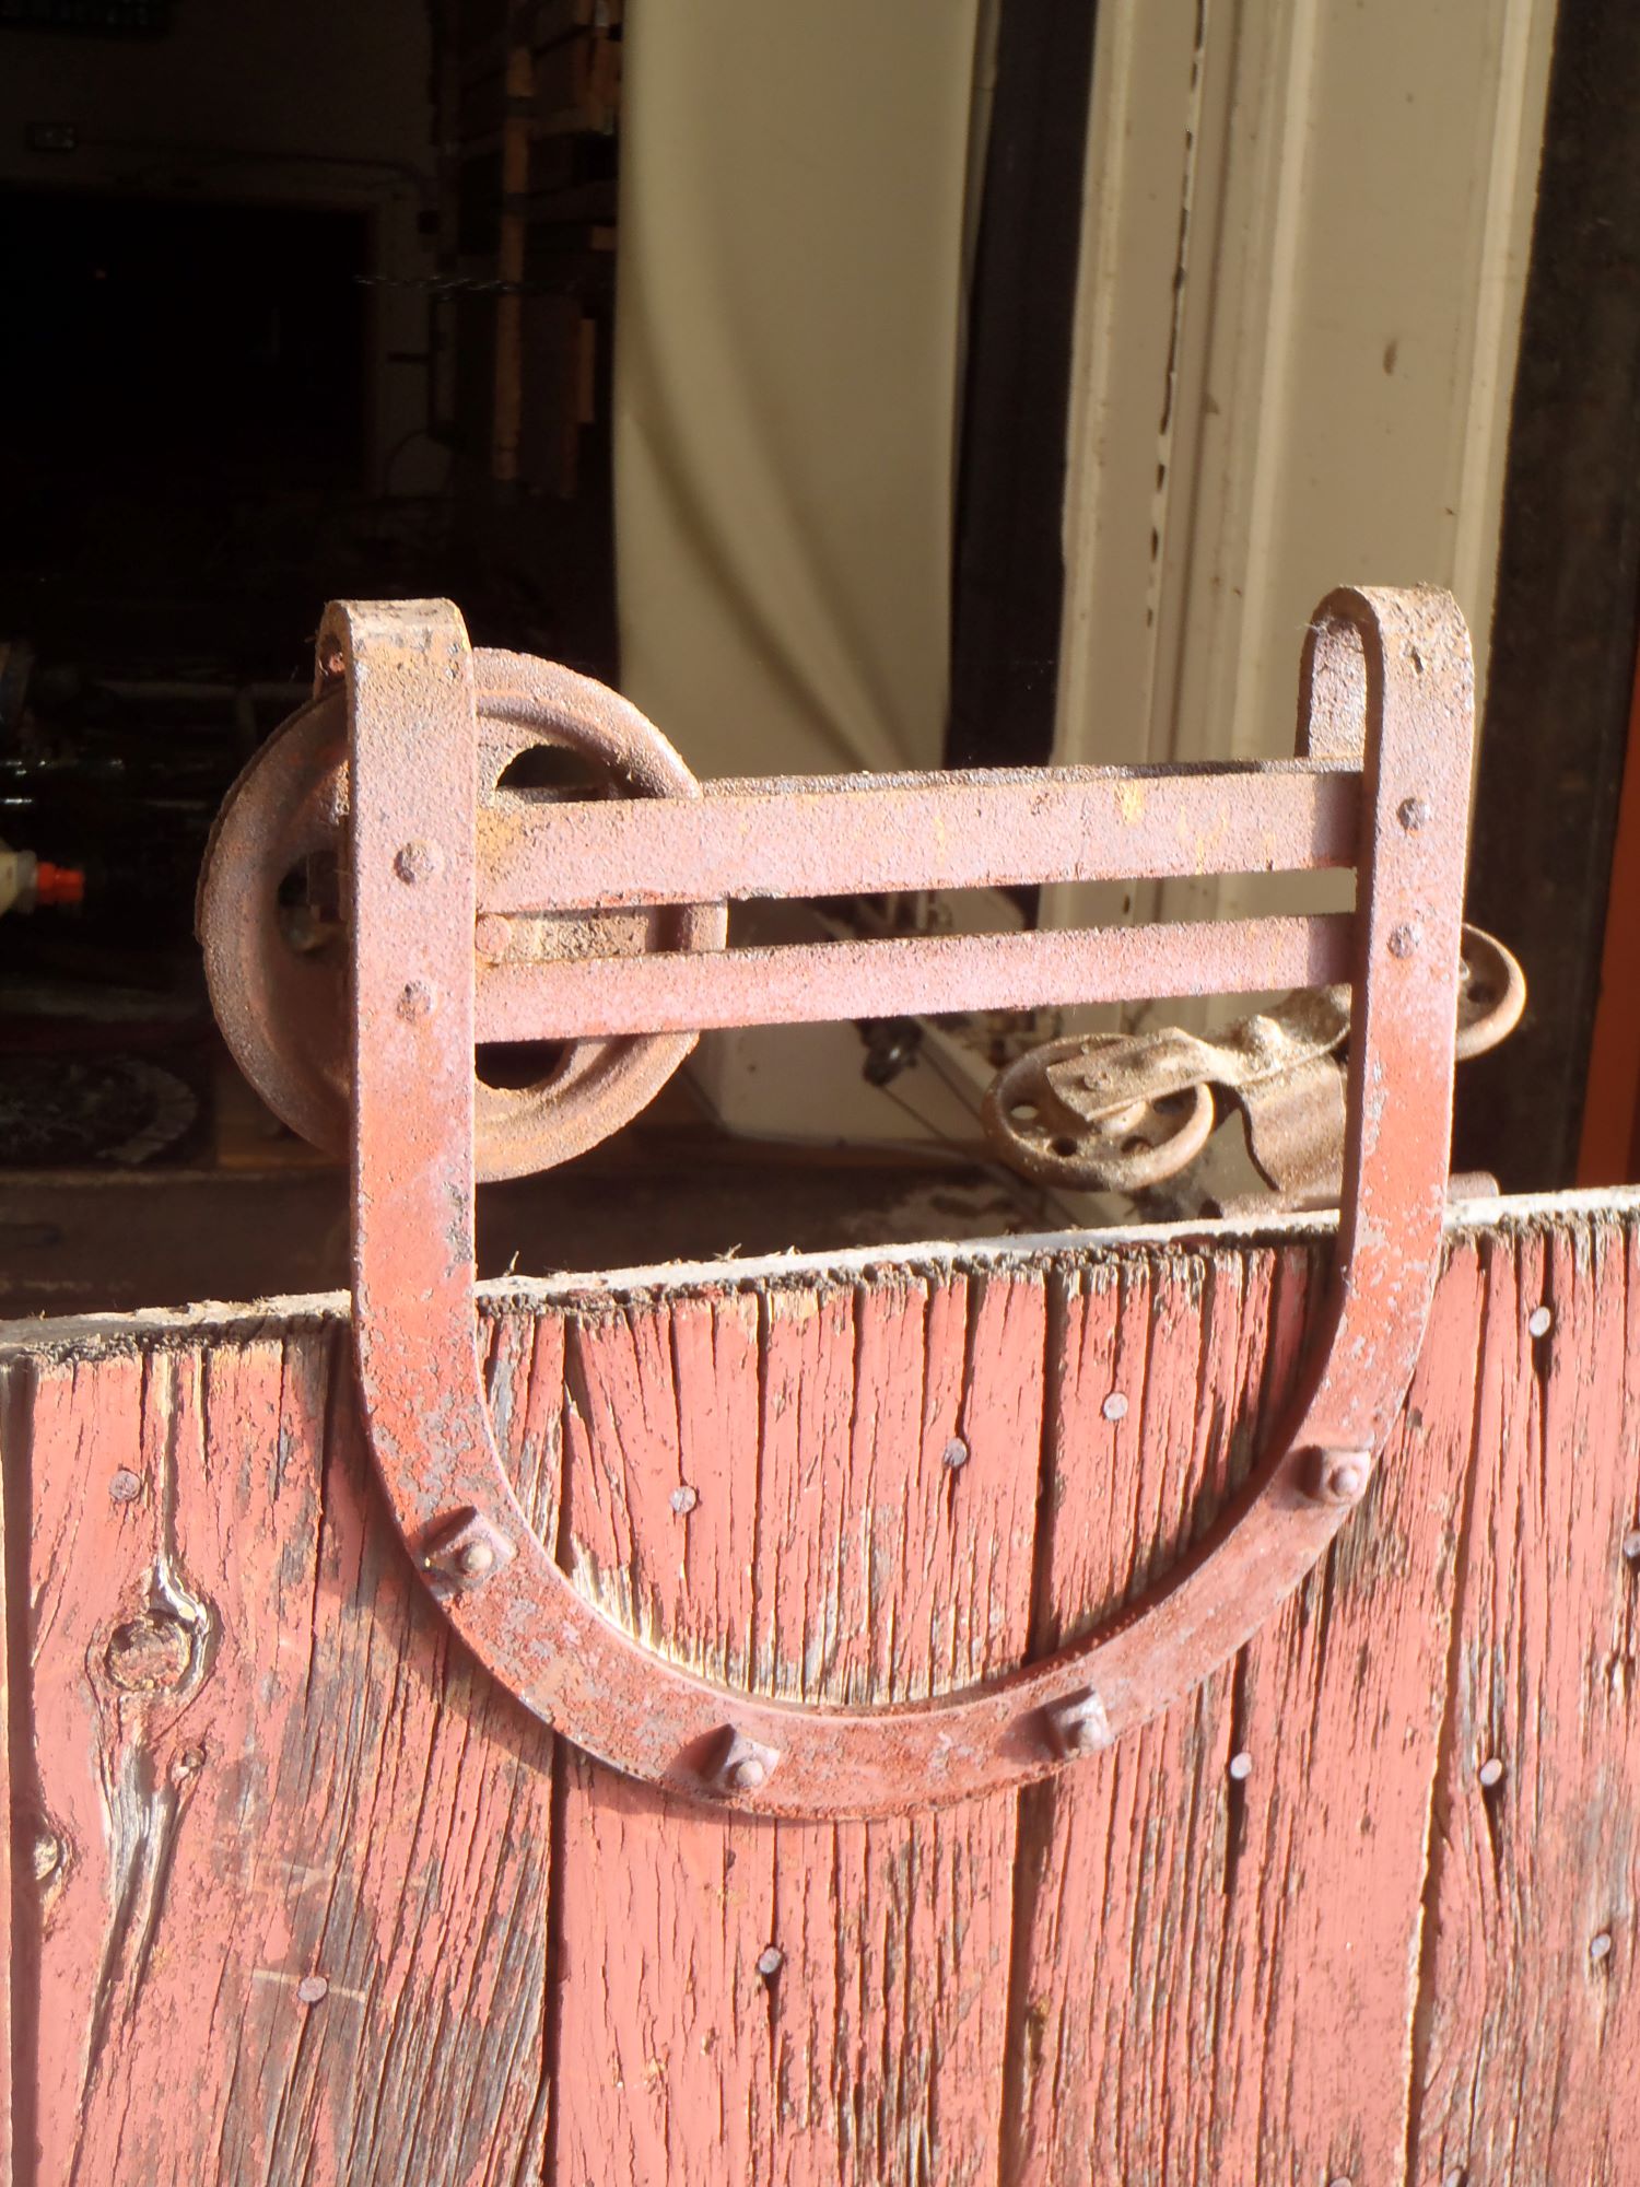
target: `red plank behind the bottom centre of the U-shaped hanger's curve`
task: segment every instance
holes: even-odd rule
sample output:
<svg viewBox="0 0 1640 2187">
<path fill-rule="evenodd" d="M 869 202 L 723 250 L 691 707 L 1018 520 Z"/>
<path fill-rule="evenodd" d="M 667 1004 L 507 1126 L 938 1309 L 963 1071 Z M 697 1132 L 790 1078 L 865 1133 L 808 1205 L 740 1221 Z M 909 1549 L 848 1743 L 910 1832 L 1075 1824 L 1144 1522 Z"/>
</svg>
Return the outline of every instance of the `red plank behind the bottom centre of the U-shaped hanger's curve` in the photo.
<svg viewBox="0 0 1640 2187">
<path fill-rule="evenodd" d="M 579 1330 L 571 1531 L 606 1599 L 789 1695 L 910 1697 L 1015 1660 L 1043 1284 L 969 1288 L 772 1286 L 763 1310 L 682 1301 L 667 1341 Z M 768 1826 L 573 1761 L 555 2178 L 995 2176 L 1010 1868 L 1010 1800 Z"/>
</svg>

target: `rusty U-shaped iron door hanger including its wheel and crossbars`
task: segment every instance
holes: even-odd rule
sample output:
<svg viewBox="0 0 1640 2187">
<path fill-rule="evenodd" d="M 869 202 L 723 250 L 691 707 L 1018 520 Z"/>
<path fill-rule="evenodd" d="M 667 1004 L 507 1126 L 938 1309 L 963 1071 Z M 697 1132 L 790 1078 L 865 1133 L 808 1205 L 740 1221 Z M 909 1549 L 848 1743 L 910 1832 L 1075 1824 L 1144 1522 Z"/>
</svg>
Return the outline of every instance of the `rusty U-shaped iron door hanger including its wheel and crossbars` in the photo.
<svg viewBox="0 0 1640 2187">
<path fill-rule="evenodd" d="M 475 654 L 446 601 L 330 608 L 313 704 L 221 816 L 206 962 L 254 1083 L 319 1142 L 350 1139 L 376 1470 L 442 1614 L 527 1708 L 619 1769 L 730 1809 L 894 1813 L 1109 1745 L 1292 1594 L 1371 1481 L 1434 1288 L 1472 711 L 1445 593 L 1343 590 L 1310 628 L 1295 761 L 698 785 L 612 693 Z M 617 794 L 512 787 L 503 755 L 531 741 L 595 761 Z M 1329 866 L 1356 868 L 1354 914 L 724 947 L 724 903 L 746 897 Z M 330 888 L 335 949 L 280 934 L 293 870 Z M 531 1531 L 477 1347 L 481 1174 L 614 1128 L 708 1026 L 1345 980 L 1329 1306 L 1240 1500 L 1137 1607 L 960 1693 L 803 1706 L 647 1651 Z M 540 1085 L 488 1102 L 485 1041 L 569 1045 Z"/>
</svg>

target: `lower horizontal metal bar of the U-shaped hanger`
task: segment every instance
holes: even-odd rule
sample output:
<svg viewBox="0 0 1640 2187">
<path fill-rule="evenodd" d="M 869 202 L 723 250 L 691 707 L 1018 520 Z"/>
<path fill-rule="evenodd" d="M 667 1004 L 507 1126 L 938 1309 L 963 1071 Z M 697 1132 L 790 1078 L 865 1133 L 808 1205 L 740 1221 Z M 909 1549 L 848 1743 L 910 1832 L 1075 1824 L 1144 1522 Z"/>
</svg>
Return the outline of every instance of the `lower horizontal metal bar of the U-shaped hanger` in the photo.
<svg viewBox="0 0 1640 2187">
<path fill-rule="evenodd" d="M 1349 978 L 1354 916 L 1225 919 L 1036 934 L 923 934 L 778 949 L 479 967 L 481 1041 L 1257 995 Z"/>
</svg>

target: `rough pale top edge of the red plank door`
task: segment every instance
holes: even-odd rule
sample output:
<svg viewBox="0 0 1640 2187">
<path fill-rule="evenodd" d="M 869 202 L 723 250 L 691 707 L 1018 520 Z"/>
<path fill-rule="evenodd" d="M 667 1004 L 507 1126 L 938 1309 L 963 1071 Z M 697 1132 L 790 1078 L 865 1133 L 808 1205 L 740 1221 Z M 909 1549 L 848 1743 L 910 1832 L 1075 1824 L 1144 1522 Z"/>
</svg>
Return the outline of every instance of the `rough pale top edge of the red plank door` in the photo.
<svg viewBox="0 0 1640 2187">
<path fill-rule="evenodd" d="M 1448 1209 L 1448 1238 L 1474 1231 L 1520 1233 L 1585 1216 L 1631 1216 L 1640 1212 L 1640 1185 L 1607 1185 L 1581 1192 L 1524 1192 L 1459 1201 Z M 676 1260 L 652 1268 L 610 1268 L 564 1275 L 492 1275 L 477 1286 L 479 1312 L 509 1310 L 597 1310 L 636 1299 L 676 1299 L 700 1290 L 746 1290 L 752 1284 L 781 1288 L 862 1282 L 872 1275 L 907 1277 L 960 1273 L 986 1275 L 1036 1262 L 1080 1262 L 1096 1266 L 1117 1253 L 1192 1253 L 1203 1249 L 1308 1244 L 1332 1238 L 1338 1209 L 1323 1214 L 1227 1216 L 1194 1223 L 1126 1223 L 1111 1229 L 1030 1231 L 1017 1238 L 929 1240 L 925 1244 L 844 1247 L 831 1253 L 761 1253 L 746 1260 Z M 345 1290 L 297 1293 L 295 1297 L 230 1303 L 201 1299 L 195 1306 L 155 1306 L 122 1314 L 35 1314 L 0 1321 L 0 1365 L 7 1358 L 94 1358 L 98 1352 L 164 1349 L 203 1338 L 254 1338 L 273 1330 L 295 1332 L 343 1323 Z"/>
</svg>

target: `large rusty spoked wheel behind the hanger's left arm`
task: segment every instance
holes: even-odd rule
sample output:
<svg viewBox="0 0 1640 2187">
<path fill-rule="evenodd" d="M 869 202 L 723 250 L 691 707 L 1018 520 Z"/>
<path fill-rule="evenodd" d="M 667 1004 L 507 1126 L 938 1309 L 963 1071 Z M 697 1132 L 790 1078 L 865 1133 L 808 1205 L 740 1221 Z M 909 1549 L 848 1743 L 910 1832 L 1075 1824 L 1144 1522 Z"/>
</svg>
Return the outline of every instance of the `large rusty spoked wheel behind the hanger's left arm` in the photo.
<svg viewBox="0 0 1640 2187">
<path fill-rule="evenodd" d="M 472 667 L 479 969 L 722 949 L 722 905 L 505 921 L 483 912 L 485 816 L 588 796 L 698 798 L 700 785 L 660 730 L 601 685 L 525 654 L 475 652 Z M 341 689 L 326 687 L 230 790 L 206 849 L 197 923 L 234 1061 L 291 1131 L 335 1155 L 350 1131 L 345 842 L 348 717 Z M 479 1052 L 479 1177 L 525 1177 L 597 1146 L 654 1100 L 693 1045 L 695 1034 L 673 1032 Z"/>
</svg>

